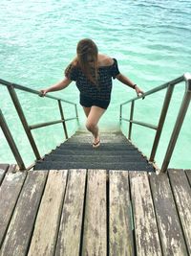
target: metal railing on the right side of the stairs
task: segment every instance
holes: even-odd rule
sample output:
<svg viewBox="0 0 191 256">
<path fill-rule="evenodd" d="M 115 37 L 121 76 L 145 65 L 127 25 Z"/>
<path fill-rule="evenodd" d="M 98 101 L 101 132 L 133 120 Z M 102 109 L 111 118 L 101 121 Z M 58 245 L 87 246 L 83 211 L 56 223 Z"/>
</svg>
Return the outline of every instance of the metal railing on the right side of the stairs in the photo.
<svg viewBox="0 0 191 256">
<path fill-rule="evenodd" d="M 185 73 L 183 76 L 181 76 L 180 78 L 177 78 L 176 80 L 168 81 L 168 82 L 166 82 L 166 83 L 164 83 L 164 84 L 162 84 L 162 85 L 144 93 L 144 95 L 138 96 L 138 97 L 120 105 L 120 117 L 119 117 L 120 123 L 121 123 L 122 120 L 129 122 L 128 139 L 131 140 L 131 133 L 132 133 L 132 125 L 133 124 L 143 126 L 143 127 L 146 127 L 146 128 L 153 128 L 153 129 L 156 130 L 156 135 L 155 135 L 155 139 L 154 139 L 154 142 L 153 142 L 153 147 L 152 147 L 150 158 L 149 158 L 150 162 L 154 162 L 156 151 L 157 151 L 158 145 L 159 145 L 159 138 L 160 138 L 160 135 L 161 135 L 161 131 L 162 131 L 164 122 L 165 122 L 165 118 L 166 118 L 168 107 L 169 107 L 169 104 L 170 104 L 170 101 L 171 101 L 171 98 L 172 98 L 173 90 L 174 90 L 175 85 L 180 83 L 181 81 L 185 81 L 185 92 L 184 92 L 184 96 L 183 96 L 183 99 L 182 99 L 182 102 L 181 102 L 181 105 L 180 105 L 180 110 L 179 110 L 179 113 L 178 113 L 178 116 L 177 116 L 177 120 L 176 120 L 175 126 L 173 128 L 171 138 L 170 138 L 170 141 L 169 141 L 169 144 L 168 144 L 168 147 L 167 147 L 167 151 L 165 153 L 165 156 L 164 156 L 164 159 L 163 159 L 163 162 L 162 162 L 162 165 L 161 165 L 161 169 L 160 169 L 161 173 L 166 172 L 166 170 L 168 168 L 172 153 L 175 149 L 175 145 L 176 145 L 179 133 L 180 133 L 180 128 L 182 126 L 187 108 L 188 108 L 190 100 L 191 100 L 191 74 Z M 163 90 L 165 88 L 167 88 L 167 90 L 166 90 L 164 102 L 163 102 L 163 105 L 162 105 L 162 108 L 161 108 L 158 125 L 155 126 L 155 125 L 151 125 L 151 124 L 147 124 L 147 123 L 143 123 L 143 122 L 139 122 L 139 121 L 134 120 L 135 102 L 137 100 L 143 98 L 143 97 L 152 95 L 152 94 L 154 94 L 156 92 L 159 92 L 160 90 Z M 125 118 L 122 117 L 122 106 L 130 104 L 130 103 L 131 103 L 130 118 L 125 119 Z"/>
</svg>

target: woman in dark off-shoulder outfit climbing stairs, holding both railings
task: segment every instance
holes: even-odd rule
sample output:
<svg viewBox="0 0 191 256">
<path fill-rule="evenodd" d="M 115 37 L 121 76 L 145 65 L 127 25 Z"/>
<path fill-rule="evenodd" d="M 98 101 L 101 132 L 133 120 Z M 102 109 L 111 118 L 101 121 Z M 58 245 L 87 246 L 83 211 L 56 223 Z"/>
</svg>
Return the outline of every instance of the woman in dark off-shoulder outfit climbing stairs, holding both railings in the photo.
<svg viewBox="0 0 191 256">
<path fill-rule="evenodd" d="M 78 42 L 76 58 L 65 70 L 65 78 L 47 89 L 40 91 L 40 96 L 46 93 L 66 88 L 72 81 L 80 92 L 80 105 L 87 116 L 86 128 L 94 136 L 93 147 L 100 145 L 98 121 L 110 104 L 112 78 L 132 87 L 137 94 L 143 94 L 138 85 L 122 75 L 117 67 L 117 59 L 98 53 L 96 43 L 88 38 Z"/>
</svg>

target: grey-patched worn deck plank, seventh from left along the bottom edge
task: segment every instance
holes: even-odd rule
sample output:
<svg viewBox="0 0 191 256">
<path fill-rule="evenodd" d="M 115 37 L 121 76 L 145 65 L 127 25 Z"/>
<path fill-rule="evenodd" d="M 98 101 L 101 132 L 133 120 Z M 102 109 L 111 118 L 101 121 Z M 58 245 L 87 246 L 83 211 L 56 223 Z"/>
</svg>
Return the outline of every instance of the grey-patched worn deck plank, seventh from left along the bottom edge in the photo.
<svg viewBox="0 0 191 256">
<path fill-rule="evenodd" d="M 150 184 L 164 255 L 187 256 L 175 201 L 166 174 L 150 174 Z"/>
</svg>

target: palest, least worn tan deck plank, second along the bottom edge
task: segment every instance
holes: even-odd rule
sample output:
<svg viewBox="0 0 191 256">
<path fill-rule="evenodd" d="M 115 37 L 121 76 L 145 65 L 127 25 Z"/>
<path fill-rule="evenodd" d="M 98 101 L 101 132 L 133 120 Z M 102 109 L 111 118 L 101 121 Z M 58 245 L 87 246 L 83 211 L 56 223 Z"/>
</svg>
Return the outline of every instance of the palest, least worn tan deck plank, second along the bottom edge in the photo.
<svg viewBox="0 0 191 256">
<path fill-rule="evenodd" d="M 36 218 L 28 256 L 53 255 L 59 229 L 67 173 L 67 170 L 52 170 L 49 173 Z"/>
</svg>

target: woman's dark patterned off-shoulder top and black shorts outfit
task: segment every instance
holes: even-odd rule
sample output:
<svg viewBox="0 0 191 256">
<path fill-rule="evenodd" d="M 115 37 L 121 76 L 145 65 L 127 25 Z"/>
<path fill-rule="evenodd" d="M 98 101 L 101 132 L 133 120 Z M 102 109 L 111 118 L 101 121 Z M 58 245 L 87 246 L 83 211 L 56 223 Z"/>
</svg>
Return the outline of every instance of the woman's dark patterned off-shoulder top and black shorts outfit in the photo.
<svg viewBox="0 0 191 256">
<path fill-rule="evenodd" d="M 80 105 L 91 107 L 92 105 L 106 109 L 110 104 L 112 92 L 112 78 L 119 74 L 117 59 L 110 66 L 98 67 L 98 85 L 89 81 L 80 68 L 73 67 L 68 78 L 75 81 L 80 91 Z"/>
</svg>

